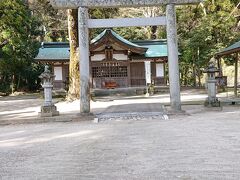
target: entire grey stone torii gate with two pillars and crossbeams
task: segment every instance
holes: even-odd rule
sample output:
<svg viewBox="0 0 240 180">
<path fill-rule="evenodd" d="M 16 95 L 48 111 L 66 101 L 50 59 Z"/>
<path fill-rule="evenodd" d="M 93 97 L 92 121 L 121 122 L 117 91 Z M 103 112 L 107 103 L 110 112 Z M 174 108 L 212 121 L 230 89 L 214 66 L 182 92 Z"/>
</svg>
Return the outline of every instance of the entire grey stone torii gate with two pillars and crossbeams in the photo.
<svg viewBox="0 0 240 180">
<path fill-rule="evenodd" d="M 78 9 L 80 51 L 80 113 L 90 113 L 89 28 L 167 26 L 170 101 L 173 111 L 181 110 L 178 44 L 175 5 L 203 0 L 50 0 L 59 9 Z M 156 18 L 89 19 L 88 8 L 141 7 L 166 5 L 166 16 Z"/>
</svg>

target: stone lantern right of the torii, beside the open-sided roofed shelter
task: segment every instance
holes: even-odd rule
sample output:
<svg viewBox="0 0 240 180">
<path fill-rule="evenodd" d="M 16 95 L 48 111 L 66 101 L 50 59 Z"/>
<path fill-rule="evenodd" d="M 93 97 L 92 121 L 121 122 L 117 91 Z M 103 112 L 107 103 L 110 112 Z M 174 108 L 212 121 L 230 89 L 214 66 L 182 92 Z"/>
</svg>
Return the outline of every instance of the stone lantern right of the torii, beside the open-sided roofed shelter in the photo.
<svg viewBox="0 0 240 180">
<path fill-rule="evenodd" d="M 213 59 L 210 60 L 208 67 L 204 70 L 204 73 L 207 73 L 207 90 L 208 98 L 205 101 L 206 107 L 220 107 L 220 101 L 216 97 L 216 83 L 215 73 L 219 72 L 219 69 L 216 68 Z"/>
</svg>

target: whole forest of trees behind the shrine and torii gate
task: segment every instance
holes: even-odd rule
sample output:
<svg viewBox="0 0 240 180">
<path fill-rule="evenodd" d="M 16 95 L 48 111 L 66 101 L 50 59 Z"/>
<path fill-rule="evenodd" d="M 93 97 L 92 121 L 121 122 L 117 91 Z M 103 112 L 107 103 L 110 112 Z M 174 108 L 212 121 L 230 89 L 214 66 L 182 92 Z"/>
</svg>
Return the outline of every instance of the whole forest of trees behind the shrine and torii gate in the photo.
<svg viewBox="0 0 240 180">
<path fill-rule="evenodd" d="M 165 7 L 90 9 L 90 18 L 155 17 Z M 41 42 L 70 41 L 69 96 L 78 97 L 77 11 L 56 10 L 48 0 L 0 0 L 0 92 L 35 91 L 42 65 L 34 61 Z M 240 40 L 239 0 L 206 0 L 177 6 L 180 77 L 183 86 L 202 86 L 202 69 L 220 49 Z M 90 31 L 95 37 L 103 29 Z M 162 26 L 114 28 L 128 40 L 166 39 Z M 231 65 L 234 58 L 224 59 Z"/>
</svg>

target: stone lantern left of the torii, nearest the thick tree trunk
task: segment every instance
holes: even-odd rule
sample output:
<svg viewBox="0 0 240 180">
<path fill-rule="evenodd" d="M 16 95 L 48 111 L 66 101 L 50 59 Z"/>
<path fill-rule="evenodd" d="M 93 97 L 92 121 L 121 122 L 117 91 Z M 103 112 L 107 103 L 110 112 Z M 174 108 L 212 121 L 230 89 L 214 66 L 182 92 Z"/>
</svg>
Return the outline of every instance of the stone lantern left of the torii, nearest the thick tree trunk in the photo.
<svg viewBox="0 0 240 180">
<path fill-rule="evenodd" d="M 59 115 L 57 107 L 52 102 L 52 88 L 54 77 L 55 75 L 50 72 L 49 66 L 47 65 L 45 66 L 44 72 L 39 76 L 42 81 L 42 87 L 44 88 L 44 103 L 41 106 L 41 113 L 39 113 L 41 117 L 52 117 Z"/>
</svg>

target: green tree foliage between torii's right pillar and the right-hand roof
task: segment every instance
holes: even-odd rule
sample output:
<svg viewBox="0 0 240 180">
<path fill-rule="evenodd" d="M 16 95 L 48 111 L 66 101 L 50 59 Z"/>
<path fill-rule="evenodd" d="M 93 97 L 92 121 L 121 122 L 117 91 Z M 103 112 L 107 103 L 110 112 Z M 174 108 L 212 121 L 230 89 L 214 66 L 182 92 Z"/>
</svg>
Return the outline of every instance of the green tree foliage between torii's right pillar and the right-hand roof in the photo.
<svg viewBox="0 0 240 180">
<path fill-rule="evenodd" d="M 230 0 L 207 0 L 178 8 L 181 77 L 184 85 L 201 86 L 202 68 L 219 49 L 236 41 L 236 18 Z M 198 79 L 198 83 L 196 82 Z"/>
</svg>

